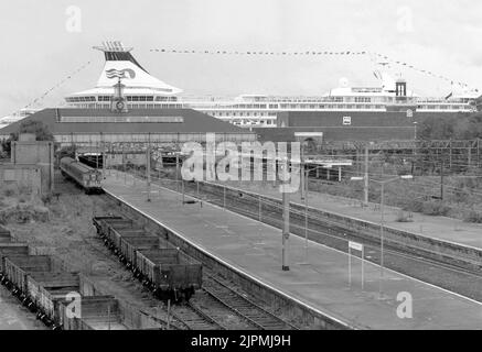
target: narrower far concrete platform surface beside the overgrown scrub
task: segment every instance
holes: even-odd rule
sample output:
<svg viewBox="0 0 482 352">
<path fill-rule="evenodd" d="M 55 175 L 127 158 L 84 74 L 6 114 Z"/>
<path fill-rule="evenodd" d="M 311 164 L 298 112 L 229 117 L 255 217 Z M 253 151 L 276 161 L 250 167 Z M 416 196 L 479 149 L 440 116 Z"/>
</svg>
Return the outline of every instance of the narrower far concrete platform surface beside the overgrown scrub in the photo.
<svg viewBox="0 0 482 352">
<path fill-rule="evenodd" d="M 271 198 L 281 198 L 278 187 L 269 183 L 265 183 L 264 185 L 256 182 L 226 182 L 218 184 L 261 194 Z M 304 200 L 301 200 L 300 193 L 291 194 L 290 200 L 296 204 L 304 205 Z M 360 200 L 309 191 L 308 206 L 362 221 L 381 222 L 379 205 L 375 204 L 369 204 L 368 207 L 362 208 Z M 482 224 L 468 223 L 462 220 L 446 217 L 425 216 L 416 212 L 413 213 L 411 222 L 398 222 L 396 219 L 399 211 L 399 208 L 385 206 L 385 227 L 446 242 L 482 249 Z"/>
</svg>

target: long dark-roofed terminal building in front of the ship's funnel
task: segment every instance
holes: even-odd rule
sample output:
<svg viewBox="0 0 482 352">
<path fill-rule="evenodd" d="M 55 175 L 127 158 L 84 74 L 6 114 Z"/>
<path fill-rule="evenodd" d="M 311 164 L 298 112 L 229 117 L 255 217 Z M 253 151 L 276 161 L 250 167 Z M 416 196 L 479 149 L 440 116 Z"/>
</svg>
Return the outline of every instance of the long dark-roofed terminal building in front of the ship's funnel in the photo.
<svg viewBox="0 0 482 352">
<path fill-rule="evenodd" d="M 18 132 L 26 121 L 41 121 L 61 145 L 100 143 L 204 142 L 206 133 L 217 141 L 254 141 L 256 134 L 192 109 L 44 109 L 0 130 L 0 140 Z"/>
</svg>

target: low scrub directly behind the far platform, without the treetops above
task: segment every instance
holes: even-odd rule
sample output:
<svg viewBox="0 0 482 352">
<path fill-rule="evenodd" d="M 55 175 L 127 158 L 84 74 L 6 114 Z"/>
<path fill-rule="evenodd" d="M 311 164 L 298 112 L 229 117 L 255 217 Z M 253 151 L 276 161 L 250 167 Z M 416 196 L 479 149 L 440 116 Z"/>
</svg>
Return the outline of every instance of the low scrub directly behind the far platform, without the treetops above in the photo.
<svg viewBox="0 0 482 352">
<path fill-rule="evenodd" d="M 410 174 L 410 167 L 399 156 L 376 155 L 371 157 L 369 178 L 388 179 L 396 175 Z M 356 175 L 356 169 L 346 169 L 347 175 Z M 441 176 L 418 174 L 411 180 L 396 180 L 385 185 L 385 204 L 406 212 L 427 216 L 443 216 L 470 222 L 482 222 L 482 175 L 481 169 L 469 168 L 463 173 L 449 173 L 443 177 L 443 199 Z M 356 199 L 364 198 L 364 183 L 345 178 L 341 183 L 310 180 L 310 189 L 320 193 Z M 371 202 L 379 204 L 381 186 L 371 182 Z M 409 221 L 409 216 L 400 213 L 397 221 Z"/>
</svg>

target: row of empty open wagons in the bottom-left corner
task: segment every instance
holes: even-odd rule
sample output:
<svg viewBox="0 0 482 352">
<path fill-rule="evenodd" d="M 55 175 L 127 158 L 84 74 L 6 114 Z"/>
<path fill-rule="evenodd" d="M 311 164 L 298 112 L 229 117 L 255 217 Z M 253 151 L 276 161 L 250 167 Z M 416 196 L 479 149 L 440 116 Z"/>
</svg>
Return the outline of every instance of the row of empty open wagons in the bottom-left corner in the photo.
<svg viewBox="0 0 482 352">
<path fill-rule="evenodd" d="M 1 243 L 1 283 L 36 318 L 53 330 L 127 330 L 119 302 L 111 296 L 81 296 L 81 310 L 72 317 L 69 294 L 81 295 L 81 275 L 63 270 L 61 261 L 49 255 L 29 255 L 24 243 Z M 65 320 L 67 319 L 67 320 Z"/>
</svg>

